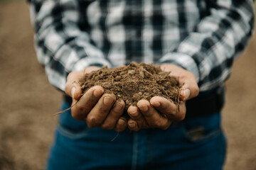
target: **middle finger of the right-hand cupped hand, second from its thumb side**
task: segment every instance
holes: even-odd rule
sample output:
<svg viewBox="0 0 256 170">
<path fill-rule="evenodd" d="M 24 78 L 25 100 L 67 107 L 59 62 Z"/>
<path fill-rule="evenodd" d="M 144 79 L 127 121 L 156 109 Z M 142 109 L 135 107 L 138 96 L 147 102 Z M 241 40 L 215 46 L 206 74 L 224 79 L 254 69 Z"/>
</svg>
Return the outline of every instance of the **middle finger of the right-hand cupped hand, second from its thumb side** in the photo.
<svg viewBox="0 0 256 170">
<path fill-rule="evenodd" d="M 166 129 L 171 125 L 171 121 L 164 116 L 160 115 L 156 109 L 151 107 L 149 101 L 141 100 L 137 103 L 139 111 L 142 112 L 146 122 L 151 128 L 161 128 Z"/>
</svg>

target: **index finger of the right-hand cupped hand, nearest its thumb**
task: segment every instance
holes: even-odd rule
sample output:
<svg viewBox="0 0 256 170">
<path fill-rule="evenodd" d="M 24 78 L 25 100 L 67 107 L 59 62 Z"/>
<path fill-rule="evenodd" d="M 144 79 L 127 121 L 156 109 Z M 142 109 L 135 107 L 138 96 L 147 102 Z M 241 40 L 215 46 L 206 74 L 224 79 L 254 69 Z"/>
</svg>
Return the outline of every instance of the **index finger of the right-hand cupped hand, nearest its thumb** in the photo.
<svg viewBox="0 0 256 170">
<path fill-rule="evenodd" d="M 181 102 L 178 106 L 166 98 L 155 96 L 151 98 L 150 103 L 157 111 L 166 115 L 169 120 L 181 121 L 186 115 L 185 102 Z"/>
</svg>

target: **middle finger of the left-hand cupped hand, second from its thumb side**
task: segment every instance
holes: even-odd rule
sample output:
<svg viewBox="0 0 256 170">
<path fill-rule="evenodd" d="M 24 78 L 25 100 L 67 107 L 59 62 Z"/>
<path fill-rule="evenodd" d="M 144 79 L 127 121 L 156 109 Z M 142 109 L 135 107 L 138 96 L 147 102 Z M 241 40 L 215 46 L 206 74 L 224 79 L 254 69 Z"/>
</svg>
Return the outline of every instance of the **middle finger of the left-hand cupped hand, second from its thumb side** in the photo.
<svg viewBox="0 0 256 170">
<path fill-rule="evenodd" d="M 100 127 L 115 102 L 114 94 L 104 94 L 88 113 L 85 121 L 89 128 Z"/>
</svg>

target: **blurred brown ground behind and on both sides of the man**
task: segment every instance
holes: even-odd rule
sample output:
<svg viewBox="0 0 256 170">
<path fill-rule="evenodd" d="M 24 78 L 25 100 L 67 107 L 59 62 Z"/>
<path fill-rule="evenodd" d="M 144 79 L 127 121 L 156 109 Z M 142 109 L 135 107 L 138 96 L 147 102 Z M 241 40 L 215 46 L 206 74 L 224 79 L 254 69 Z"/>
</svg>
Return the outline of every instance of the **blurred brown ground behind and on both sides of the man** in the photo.
<svg viewBox="0 0 256 170">
<path fill-rule="evenodd" d="M 226 82 L 225 170 L 256 169 L 256 37 Z M 0 0 L 0 169 L 43 169 L 62 94 L 48 83 L 33 49 L 26 1 Z"/>
</svg>

